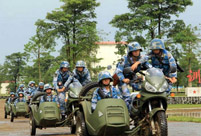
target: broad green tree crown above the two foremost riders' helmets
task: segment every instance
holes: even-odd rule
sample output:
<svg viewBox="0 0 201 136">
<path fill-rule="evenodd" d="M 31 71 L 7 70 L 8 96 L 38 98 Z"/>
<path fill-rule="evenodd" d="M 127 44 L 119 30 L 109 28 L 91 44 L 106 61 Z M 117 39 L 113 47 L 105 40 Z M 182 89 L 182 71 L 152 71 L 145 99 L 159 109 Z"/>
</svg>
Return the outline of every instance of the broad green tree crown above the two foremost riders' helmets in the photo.
<svg viewBox="0 0 201 136">
<path fill-rule="evenodd" d="M 138 41 L 146 46 L 146 40 L 165 38 L 174 23 L 171 16 L 179 16 L 192 0 L 128 0 L 129 13 L 116 15 L 110 22 L 118 28 L 116 41 Z M 146 39 L 146 40 L 145 40 Z"/>
</svg>

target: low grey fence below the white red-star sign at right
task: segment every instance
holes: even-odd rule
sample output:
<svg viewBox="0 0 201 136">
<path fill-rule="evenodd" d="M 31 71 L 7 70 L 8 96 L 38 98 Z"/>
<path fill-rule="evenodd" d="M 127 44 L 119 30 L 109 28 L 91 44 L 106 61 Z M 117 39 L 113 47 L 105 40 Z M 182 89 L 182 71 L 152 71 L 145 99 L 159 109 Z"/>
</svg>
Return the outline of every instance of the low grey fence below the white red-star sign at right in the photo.
<svg viewBox="0 0 201 136">
<path fill-rule="evenodd" d="M 169 97 L 168 104 L 201 104 L 201 97 Z"/>
</svg>

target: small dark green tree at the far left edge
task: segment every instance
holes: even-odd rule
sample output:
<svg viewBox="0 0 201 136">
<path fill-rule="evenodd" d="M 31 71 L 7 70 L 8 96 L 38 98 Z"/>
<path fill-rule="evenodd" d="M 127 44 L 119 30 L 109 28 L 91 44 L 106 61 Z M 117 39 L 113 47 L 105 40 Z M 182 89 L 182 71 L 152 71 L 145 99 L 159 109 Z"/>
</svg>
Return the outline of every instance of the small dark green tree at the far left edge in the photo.
<svg viewBox="0 0 201 136">
<path fill-rule="evenodd" d="M 4 66 L 7 70 L 7 80 L 14 81 L 14 84 L 10 84 L 9 87 L 11 90 L 15 90 L 17 88 L 17 81 L 19 77 L 23 75 L 23 70 L 26 66 L 28 54 L 27 53 L 13 53 L 11 55 L 6 56 L 6 60 Z"/>
</svg>

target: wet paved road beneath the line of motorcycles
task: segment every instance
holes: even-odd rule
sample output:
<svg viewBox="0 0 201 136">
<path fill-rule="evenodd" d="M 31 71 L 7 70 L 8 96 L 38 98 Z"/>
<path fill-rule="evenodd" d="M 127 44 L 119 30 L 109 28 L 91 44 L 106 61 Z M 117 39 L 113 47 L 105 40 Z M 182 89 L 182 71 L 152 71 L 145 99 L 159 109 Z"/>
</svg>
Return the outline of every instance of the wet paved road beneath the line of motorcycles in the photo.
<svg viewBox="0 0 201 136">
<path fill-rule="evenodd" d="M 4 101 L 0 100 L 0 136 L 28 136 L 29 119 L 17 118 L 13 123 L 10 117 L 4 119 Z M 169 136 L 201 136 L 201 123 L 168 122 Z M 73 136 L 67 127 L 37 129 L 37 136 Z"/>
</svg>

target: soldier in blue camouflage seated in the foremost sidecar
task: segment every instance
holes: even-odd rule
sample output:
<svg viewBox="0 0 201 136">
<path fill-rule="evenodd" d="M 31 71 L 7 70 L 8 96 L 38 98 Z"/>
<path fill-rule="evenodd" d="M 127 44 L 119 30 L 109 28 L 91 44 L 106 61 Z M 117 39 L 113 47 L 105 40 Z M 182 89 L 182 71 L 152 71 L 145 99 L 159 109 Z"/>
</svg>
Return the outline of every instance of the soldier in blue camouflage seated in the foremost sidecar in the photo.
<svg viewBox="0 0 201 136">
<path fill-rule="evenodd" d="M 104 98 L 120 98 L 120 93 L 116 90 L 115 87 L 110 85 L 110 82 L 112 82 L 113 79 L 109 72 L 102 71 L 98 75 L 98 83 L 100 84 L 100 87 L 97 88 L 92 97 L 92 110 L 94 111 L 96 108 L 96 104 L 99 100 Z"/>
</svg>

